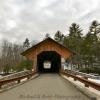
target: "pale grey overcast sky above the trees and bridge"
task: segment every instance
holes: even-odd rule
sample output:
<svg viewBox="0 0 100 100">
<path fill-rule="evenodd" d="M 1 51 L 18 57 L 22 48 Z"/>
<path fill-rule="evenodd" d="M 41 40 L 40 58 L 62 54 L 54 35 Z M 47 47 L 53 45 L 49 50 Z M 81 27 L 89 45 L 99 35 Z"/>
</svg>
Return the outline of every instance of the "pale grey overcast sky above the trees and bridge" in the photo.
<svg viewBox="0 0 100 100">
<path fill-rule="evenodd" d="M 86 30 L 95 19 L 100 21 L 100 0 L 0 0 L 0 41 L 68 34 L 72 22 Z"/>
</svg>

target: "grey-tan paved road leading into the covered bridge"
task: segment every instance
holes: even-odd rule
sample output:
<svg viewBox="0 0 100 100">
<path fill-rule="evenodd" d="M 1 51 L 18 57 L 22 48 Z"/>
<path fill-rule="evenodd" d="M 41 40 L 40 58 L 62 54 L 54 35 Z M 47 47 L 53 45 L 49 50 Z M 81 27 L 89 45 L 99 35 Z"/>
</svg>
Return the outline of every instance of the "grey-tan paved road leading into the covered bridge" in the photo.
<svg viewBox="0 0 100 100">
<path fill-rule="evenodd" d="M 58 74 L 38 78 L 0 93 L 0 100 L 90 100 Z"/>
</svg>

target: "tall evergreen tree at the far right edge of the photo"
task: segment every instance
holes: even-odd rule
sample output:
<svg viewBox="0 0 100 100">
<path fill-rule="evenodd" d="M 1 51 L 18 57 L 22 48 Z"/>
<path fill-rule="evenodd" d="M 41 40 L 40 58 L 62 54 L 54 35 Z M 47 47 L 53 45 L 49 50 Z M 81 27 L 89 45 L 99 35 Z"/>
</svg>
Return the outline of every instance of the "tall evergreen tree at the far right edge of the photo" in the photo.
<svg viewBox="0 0 100 100">
<path fill-rule="evenodd" d="M 100 24 L 95 20 L 91 23 L 83 43 L 84 49 L 82 53 L 84 54 L 84 58 L 88 61 L 88 66 L 93 66 L 96 59 L 99 59 L 99 33 Z"/>
</svg>

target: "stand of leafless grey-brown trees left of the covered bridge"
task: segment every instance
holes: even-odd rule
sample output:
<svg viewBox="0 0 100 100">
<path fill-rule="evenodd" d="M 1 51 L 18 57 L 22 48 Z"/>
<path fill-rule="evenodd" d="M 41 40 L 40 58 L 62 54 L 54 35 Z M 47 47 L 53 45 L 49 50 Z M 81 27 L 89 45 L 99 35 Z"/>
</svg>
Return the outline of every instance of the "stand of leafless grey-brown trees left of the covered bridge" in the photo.
<svg viewBox="0 0 100 100">
<path fill-rule="evenodd" d="M 0 58 L 0 69 L 5 73 L 9 73 L 10 71 L 16 69 L 24 58 L 20 55 L 23 51 L 23 47 L 21 45 L 12 44 L 7 40 L 2 42 L 2 52 Z"/>
</svg>

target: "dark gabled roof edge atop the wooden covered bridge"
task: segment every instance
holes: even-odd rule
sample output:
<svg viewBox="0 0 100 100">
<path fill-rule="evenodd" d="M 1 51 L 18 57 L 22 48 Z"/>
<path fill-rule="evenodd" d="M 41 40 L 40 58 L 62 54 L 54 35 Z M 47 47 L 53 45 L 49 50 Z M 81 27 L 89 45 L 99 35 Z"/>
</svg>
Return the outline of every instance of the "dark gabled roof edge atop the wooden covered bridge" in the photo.
<svg viewBox="0 0 100 100">
<path fill-rule="evenodd" d="M 40 44 L 45 43 L 46 41 L 52 41 L 60 46 L 62 46 L 63 48 L 65 48 L 67 51 L 71 52 L 73 55 L 75 54 L 73 51 L 71 51 L 70 49 L 66 48 L 65 46 L 63 46 L 62 44 L 56 42 L 55 40 L 53 40 L 52 38 L 48 37 L 46 39 L 44 39 L 43 41 L 35 44 L 34 46 L 28 48 L 27 50 L 25 50 L 24 52 L 21 53 L 21 55 L 25 56 L 25 54 L 29 53 L 33 48 L 37 48 Z"/>
</svg>

